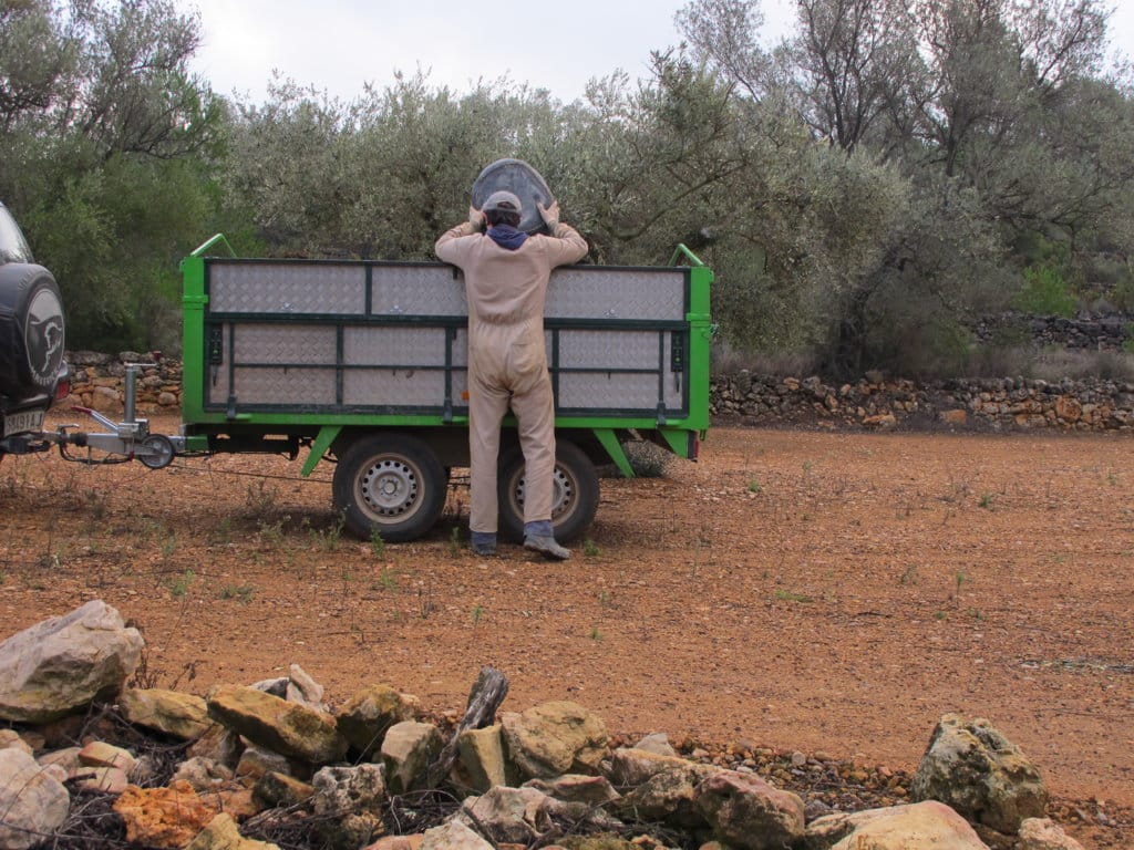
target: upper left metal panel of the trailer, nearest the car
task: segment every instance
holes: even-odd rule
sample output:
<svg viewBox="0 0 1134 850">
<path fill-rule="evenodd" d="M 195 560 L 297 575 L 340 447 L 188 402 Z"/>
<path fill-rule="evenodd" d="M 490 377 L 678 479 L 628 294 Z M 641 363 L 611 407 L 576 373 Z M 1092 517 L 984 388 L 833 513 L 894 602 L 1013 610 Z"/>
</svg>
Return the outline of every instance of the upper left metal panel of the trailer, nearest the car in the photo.
<svg viewBox="0 0 1134 850">
<path fill-rule="evenodd" d="M 345 313 L 366 309 L 361 263 L 209 263 L 214 313 Z"/>
</svg>

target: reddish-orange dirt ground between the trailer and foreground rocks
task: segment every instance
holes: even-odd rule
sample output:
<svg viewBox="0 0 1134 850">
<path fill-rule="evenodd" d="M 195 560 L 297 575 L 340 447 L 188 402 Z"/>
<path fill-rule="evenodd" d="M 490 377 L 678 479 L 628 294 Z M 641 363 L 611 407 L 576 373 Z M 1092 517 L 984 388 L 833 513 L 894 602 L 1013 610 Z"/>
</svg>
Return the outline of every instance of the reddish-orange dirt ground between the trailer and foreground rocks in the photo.
<svg viewBox="0 0 1134 850">
<path fill-rule="evenodd" d="M 154 420 L 155 431 L 176 431 Z M 297 662 L 345 702 L 388 682 L 459 711 L 575 699 L 621 732 L 912 771 L 947 712 L 988 717 L 1134 845 L 1134 442 L 718 427 L 699 464 L 603 478 L 567 563 L 477 559 L 467 492 L 429 539 L 337 533 L 330 470 L 0 464 L 0 637 L 101 597 L 195 692 Z"/>
</svg>

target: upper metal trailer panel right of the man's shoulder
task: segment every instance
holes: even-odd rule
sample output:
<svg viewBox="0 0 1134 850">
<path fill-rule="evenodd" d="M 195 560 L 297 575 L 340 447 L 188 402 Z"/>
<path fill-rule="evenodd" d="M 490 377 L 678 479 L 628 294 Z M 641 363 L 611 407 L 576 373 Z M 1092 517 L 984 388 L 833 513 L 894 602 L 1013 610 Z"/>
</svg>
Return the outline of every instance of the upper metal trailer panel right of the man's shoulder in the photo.
<svg viewBox="0 0 1134 850">
<path fill-rule="evenodd" d="M 558 269 L 548 287 L 549 318 L 685 321 L 685 272 L 669 269 Z"/>
</svg>

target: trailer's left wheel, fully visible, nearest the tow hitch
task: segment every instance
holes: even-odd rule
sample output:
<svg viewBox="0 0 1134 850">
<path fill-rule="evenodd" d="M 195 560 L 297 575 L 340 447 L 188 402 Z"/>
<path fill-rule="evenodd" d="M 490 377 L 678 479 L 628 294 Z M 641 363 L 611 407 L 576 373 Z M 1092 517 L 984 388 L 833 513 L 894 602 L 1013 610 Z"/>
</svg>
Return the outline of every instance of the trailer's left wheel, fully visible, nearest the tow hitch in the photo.
<svg viewBox="0 0 1134 850">
<path fill-rule="evenodd" d="M 331 482 L 347 528 L 389 543 L 425 534 L 445 508 L 445 469 L 421 440 L 406 434 L 363 437 L 339 458 Z"/>
</svg>

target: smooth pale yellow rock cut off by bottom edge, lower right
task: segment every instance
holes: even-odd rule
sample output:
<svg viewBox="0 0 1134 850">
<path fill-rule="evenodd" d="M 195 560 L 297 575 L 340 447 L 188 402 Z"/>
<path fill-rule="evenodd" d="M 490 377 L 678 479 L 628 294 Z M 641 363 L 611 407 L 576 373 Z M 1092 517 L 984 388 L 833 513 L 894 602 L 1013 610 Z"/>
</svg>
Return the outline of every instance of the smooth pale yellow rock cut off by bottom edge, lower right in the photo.
<svg viewBox="0 0 1134 850">
<path fill-rule="evenodd" d="M 836 835 L 843 838 L 831 844 Z M 988 850 L 960 815 L 934 801 L 821 817 L 807 826 L 806 845 L 830 850 Z"/>
</svg>

